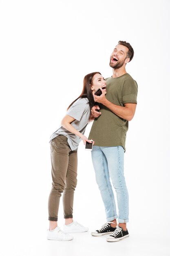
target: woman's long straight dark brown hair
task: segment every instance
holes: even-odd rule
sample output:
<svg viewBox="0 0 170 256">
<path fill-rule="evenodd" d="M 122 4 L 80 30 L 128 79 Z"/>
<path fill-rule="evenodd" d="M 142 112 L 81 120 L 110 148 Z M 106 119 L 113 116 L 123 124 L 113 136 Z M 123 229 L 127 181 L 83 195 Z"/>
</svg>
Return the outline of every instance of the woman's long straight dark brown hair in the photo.
<svg viewBox="0 0 170 256">
<path fill-rule="evenodd" d="M 93 83 L 93 76 L 95 74 L 100 74 L 100 72 L 93 72 L 93 73 L 90 73 L 90 74 L 87 74 L 86 76 L 84 76 L 83 90 L 82 90 L 82 93 L 80 94 L 80 96 L 77 98 L 77 99 L 87 98 L 88 101 L 89 101 L 90 109 L 95 105 L 95 101 L 94 101 L 93 94 L 92 94 L 92 91 L 91 91 L 91 85 Z M 70 106 L 68 106 L 67 110 L 73 105 L 73 103 L 75 103 L 75 101 L 77 101 L 77 99 L 75 99 L 70 104 Z"/>
</svg>

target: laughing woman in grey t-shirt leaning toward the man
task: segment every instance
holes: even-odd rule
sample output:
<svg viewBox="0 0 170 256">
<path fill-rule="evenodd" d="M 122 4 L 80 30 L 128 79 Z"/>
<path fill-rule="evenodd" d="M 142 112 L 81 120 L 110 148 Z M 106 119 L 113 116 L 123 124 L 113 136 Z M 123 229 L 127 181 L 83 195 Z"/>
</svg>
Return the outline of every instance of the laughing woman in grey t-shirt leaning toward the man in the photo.
<svg viewBox="0 0 170 256">
<path fill-rule="evenodd" d="M 73 221 L 73 199 L 77 185 L 77 149 L 81 139 L 92 143 L 84 136 L 86 126 L 91 120 L 91 108 L 94 106 L 95 90 L 103 88 L 106 82 L 99 72 L 84 77 L 83 90 L 80 96 L 69 106 L 61 126 L 51 135 L 51 168 L 52 189 L 49 195 L 49 240 L 72 240 L 72 232 L 88 231 L 87 227 Z M 60 197 L 63 193 L 64 231 L 57 227 Z"/>
</svg>

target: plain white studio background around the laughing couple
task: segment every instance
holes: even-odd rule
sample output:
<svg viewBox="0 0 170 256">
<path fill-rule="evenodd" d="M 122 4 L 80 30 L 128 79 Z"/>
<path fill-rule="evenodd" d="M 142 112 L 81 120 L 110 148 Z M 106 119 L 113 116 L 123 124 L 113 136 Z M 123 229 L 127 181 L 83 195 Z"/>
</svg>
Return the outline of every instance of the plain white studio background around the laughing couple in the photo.
<svg viewBox="0 0 170 256">
<path fill-rule="evenodd" d="M 0 1 L 1 255 L 170 255 L 169 13 L 169 0 Z M 106 219 L 81 142 L 74 219 L 90 231 L 71 242 L 48 241 L 49 137 L 86 74 L 111 76 L 119 40 L 134 48 L 126 69 L 139 88 L 125 153 L 130 238 L 91 237 Z"/>
</svg>

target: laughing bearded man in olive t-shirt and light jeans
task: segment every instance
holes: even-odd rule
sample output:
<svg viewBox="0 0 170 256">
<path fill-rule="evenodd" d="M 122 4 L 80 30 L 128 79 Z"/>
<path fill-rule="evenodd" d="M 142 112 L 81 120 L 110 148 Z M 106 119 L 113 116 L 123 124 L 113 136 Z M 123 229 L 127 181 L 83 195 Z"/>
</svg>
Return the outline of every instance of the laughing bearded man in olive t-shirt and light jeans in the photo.
<svg viewBox="0 0 170 256">
<path fill-rule="evenodd" d="M 128 190 L 124 177 L 124 152 L 128 121 L 135 115 L 137 106 L 137 83 L 126 72 L 126 64 L 133 58 L 134 51 L 126 41 L 119 41 L 110 56 L 113 75 L 106 79 L 107 94 L 94 99 L 99 103 L 92 108 L 95 117 L 89 139 L 95 141 L 92 161 L 96 182 L 99 186 L 106 211 L 106 224 L 92 232 L 92 236 L 109 234 L 108 242 L 116 242 L 129 236 Z M 100 112 L 98 112 L 99 110 Z M 117 194 L 117 215 L 113 189 Z M 118 218 L 118 225 L 117 225 Z"/>
</svg>

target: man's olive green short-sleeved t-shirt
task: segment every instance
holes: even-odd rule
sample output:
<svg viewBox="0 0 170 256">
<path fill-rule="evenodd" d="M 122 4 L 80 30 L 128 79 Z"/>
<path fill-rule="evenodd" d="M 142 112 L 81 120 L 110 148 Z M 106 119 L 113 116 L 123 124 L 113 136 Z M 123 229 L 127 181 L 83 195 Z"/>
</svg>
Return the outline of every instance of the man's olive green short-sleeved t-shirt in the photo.
<svg viewBox="0 0 170 256">
<path fill-rule="evenodd" d="M 106 99 L 118 105 L 137 103 L 137 83 L 129 74 L 106 79 Z M 99 104 L 99 103 L 98 103 Z M 122 146 L 125 150 L 128 121 L 115 115 L 104 105 L 99 104 L 100 112 L 95 118 L 88 139 L 95 141 L 94 146 Z"/>
</svg>

